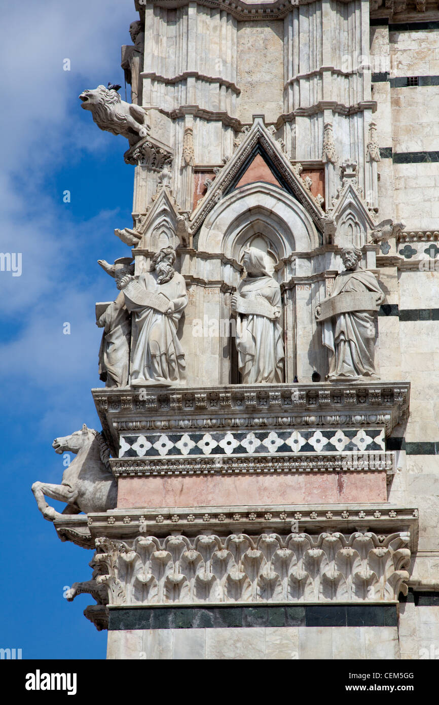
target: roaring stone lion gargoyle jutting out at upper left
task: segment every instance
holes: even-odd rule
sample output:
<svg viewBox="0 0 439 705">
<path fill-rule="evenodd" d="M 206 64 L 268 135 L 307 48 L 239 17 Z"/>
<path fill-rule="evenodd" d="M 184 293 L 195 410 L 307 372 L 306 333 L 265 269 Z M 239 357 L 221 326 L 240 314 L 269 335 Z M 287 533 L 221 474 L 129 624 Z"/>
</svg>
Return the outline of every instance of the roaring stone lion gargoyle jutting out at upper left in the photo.
<svg viewBox="0 0 439 705">
<path fill-rule="evenodd" d="M 94 122 L 101 130 L 123 135 L 130 147 L 147 137 L 151 130 L 146 111 L 122 100 L 114 88 L 101 85 L 94 90 L 82 91 L 80 100 L 81 107 L 92 113 Z"/>
</svg>

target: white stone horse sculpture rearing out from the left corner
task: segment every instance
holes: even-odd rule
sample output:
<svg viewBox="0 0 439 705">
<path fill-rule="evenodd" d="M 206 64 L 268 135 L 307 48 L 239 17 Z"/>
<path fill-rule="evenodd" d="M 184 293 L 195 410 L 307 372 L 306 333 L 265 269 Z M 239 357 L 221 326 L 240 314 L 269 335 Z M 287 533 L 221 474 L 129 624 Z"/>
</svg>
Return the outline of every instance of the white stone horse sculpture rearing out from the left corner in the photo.
<svg viewBox="0 0 439 705">
<path fill-rule="evenodd" d="M 66 514 L 105 512 L 116 507 L 117 482 L 109 467 L 109 447 L 99 431 L 84 424 L 71 436 L 55 439 L 52 447 L 58 455 L 66 450 L 78 455 L 63 472 L 61 484 L 32 484 L 32 492 L 44 519 L 53 522 Z M 62 514 L 47 504 L 44 495 L 67 502 Z"/>
</svg>

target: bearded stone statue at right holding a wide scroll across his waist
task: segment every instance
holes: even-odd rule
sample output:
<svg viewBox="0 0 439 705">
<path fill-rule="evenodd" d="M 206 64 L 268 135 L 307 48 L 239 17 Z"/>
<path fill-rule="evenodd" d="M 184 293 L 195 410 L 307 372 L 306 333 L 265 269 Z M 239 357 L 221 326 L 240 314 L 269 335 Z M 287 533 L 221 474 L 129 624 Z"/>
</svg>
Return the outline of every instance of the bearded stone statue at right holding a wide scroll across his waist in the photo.
<svg viewBox="0 0 439 705">
<path fill-rule="evenodd" d="M 377 377 L 373 364 L 375 315 L 385 295 L 376 276 L 361 269 L 361 250 L 342 250 L 345 271 L 333 291 L 316 307 L 323 345 L 329 350 L 328 380 Z"/>
</svg>

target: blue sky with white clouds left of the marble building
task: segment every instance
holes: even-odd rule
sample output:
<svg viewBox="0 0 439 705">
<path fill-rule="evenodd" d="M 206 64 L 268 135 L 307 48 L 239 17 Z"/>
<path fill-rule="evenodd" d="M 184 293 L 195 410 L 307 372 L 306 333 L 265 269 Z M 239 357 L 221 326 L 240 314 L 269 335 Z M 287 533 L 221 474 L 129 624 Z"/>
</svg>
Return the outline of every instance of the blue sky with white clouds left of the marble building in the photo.
<svg viewBox="0 0 439 705">
<path fill-rule="evenodd" d="M 63 598 L 64 586 L 89 580 L 92 551 L 58 539 L 30 487 L 61 482 L 56 436 L 101 428 L 90 393 L 102 386 L 94 302 L 117 290 L 97 259 L 130 254 L 113 231 L 132 226 L 134 168 L 123 161 L 126 140 L 101 132 L 78 95 L 123 86 L 120 45 L 136 18 L 133 0 L 2 8 L 0 251 L 21 252 L 23 264 L 21 276 L 0 271 L 0 647 L 23 658 L 106 654 L 106 632 L 82 615 L 94 600 Z"/>
</svg>

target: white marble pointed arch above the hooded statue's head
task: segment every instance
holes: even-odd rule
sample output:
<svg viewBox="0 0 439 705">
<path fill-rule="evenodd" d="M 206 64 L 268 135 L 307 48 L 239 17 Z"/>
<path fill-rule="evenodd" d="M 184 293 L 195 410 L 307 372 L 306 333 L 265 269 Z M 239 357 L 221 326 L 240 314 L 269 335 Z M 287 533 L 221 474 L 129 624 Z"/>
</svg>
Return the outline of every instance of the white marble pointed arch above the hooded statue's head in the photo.
<svg viewBox="0 0 439 705">
<path fill-rule="evenodd" d="M 200 229 L 198 250 L 240 262 L 242 250 L 259 233 L 278 259 L 319 247 L 314 223 L 302 205 L 286 191 L 256 181 L 216 204 Z"/>
</svg>

